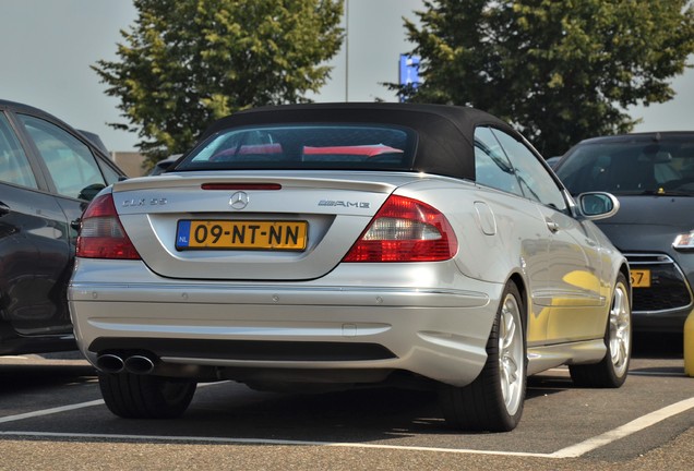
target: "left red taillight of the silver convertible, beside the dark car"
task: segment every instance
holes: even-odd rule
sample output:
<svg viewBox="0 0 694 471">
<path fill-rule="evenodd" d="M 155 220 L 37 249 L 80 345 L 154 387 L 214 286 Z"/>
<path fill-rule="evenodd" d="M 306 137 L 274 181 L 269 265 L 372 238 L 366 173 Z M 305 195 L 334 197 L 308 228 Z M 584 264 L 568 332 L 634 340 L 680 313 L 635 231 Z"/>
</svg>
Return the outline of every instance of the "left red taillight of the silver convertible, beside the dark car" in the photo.
<svg viewBox="0 0 694 471">
<path fill-rule="evenodd" d="M 76 254 L 83 258 L 140 259 L 118 219 L 110 193 L 94 198 L 82 215 Z"/>
</svg>

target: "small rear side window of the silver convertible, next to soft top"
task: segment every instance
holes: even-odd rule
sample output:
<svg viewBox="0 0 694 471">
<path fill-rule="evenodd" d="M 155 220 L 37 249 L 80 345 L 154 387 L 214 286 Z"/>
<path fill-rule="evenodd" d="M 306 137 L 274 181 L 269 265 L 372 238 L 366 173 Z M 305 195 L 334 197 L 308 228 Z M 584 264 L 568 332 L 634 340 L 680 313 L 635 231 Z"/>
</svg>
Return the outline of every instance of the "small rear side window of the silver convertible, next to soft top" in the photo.
<svg viewBox="0 0 694 471">
<path fill-rule="evenodd" d="M 489 128 L 475 130 L 475 181 L 523 196 L 513 167 Z"/>
</svg>

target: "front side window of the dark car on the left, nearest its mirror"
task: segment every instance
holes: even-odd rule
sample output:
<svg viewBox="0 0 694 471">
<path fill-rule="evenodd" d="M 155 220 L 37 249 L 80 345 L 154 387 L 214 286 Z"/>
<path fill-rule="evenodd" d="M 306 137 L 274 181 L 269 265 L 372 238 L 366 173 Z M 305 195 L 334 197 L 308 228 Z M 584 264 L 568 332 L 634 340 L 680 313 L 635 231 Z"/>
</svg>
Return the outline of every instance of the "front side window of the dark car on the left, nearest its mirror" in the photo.
<svg viewBox="0 0 694 471">
<path fill-rule="evenodd" d="M 20 114 L 38 147 L 56 191 L 73 198 L 91 200 L 106 181 L 89 147 L 48 121 Z"/>
</svg>

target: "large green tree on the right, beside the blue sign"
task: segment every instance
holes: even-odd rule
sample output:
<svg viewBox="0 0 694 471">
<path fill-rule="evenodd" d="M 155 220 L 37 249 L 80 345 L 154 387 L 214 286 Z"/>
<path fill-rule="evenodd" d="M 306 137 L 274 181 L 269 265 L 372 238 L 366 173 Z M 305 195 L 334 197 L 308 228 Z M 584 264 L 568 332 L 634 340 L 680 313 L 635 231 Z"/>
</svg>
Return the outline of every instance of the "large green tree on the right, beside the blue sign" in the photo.
<svg viewBox="0 0 694 471">
<path fill-rule="evenodd" d="M 547 156 L 631 131 L 626 108 L 672 99 L 694 52 L 689 0 L 424 0 L 417 15 L 405 27 L 423 81 L 388 86 L 487 110 Z"/>
</svg>

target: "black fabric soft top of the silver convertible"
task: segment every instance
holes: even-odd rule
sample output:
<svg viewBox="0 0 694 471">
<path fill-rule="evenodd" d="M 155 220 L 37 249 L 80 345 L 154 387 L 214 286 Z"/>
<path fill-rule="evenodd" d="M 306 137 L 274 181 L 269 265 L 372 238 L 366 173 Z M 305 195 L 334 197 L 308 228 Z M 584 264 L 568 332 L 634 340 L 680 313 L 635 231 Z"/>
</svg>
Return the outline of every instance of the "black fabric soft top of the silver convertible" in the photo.
<svg viewBox="0 0 694 471">
<path fill-rule="evenodd" d="M 213 123 L 202 141 L 231 128 L 286 123 L 396 124 L 418 135 L 414 171 L 475 178 L 475 128 L 487 125 L 518 136 L 502 120 L 475 108 L 445 105 L 347 102 L 254 108 Z"/>
</svg>

